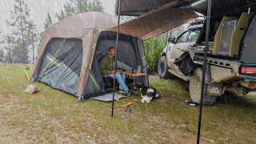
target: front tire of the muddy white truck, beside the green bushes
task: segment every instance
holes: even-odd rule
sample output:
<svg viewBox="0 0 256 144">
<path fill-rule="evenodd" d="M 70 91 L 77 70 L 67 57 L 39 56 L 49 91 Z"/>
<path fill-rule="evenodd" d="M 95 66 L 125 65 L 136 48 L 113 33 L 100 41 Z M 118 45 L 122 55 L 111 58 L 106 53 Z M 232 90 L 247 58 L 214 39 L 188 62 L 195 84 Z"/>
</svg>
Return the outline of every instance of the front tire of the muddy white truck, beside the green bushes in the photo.
<svg viewBox="0 0 256 144">
<path fill-rule="evenodd" d="M 162 56 L 158 61 L 158 76 L 161 78 L 170 78 L 166 56 Z"/>
</svg>

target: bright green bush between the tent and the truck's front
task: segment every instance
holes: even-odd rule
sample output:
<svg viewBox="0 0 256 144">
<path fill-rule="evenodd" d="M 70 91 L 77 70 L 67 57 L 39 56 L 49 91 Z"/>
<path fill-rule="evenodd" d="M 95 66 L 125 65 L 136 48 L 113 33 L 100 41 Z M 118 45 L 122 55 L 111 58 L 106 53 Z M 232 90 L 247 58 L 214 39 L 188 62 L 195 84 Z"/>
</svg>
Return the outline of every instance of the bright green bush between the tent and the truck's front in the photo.
<svg viewBox="0 0 256 144">
<path fill-rule="evenodd" d="M 144 42 L 149 73 L 156 71 L 158 60 L 161 57 L 162 48 L 164 46 L 166 46 L 166 34 L 150 38 Z"/>
</svg>

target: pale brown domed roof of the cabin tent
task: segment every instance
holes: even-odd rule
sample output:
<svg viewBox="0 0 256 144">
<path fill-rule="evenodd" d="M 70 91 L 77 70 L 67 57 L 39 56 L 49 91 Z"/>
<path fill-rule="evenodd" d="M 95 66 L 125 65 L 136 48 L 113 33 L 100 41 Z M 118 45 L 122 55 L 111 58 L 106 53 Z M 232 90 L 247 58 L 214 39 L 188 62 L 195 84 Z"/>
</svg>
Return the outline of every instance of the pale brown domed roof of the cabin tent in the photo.
<svg viewBox="0 0 256 144">
<path fill-rule="evenodd" d="M 101 32 L 116 25 L 117 22 L 110 14 L 88 12 L 75 14 L 55 23 L 48 28 L 47 33 L 50 35 L 58 34 L 60 38 L 83 38 L 90 30 Z"/>
</svg>

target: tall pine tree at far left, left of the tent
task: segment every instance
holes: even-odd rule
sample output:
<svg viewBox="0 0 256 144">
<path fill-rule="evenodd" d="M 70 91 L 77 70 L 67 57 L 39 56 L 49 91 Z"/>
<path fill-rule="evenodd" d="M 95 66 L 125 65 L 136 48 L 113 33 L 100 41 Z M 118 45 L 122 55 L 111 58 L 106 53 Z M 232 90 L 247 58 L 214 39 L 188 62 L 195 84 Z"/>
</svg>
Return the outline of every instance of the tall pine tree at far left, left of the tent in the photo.
<svg viewBox="0 0 256 144">
<path fill-rule="evenodd" d="M 29 18 L 30 10 L 24 0 L 14 0 L 14 9 L 10 11 L 10 20 L 6 20 L 11 30 L 10 34 L 6 36 L 9 62 L 30 62 L 30 50 L 34 50 L 34 43 L 38 41 L 38 35 L 34 22 Z"/>
</svg>

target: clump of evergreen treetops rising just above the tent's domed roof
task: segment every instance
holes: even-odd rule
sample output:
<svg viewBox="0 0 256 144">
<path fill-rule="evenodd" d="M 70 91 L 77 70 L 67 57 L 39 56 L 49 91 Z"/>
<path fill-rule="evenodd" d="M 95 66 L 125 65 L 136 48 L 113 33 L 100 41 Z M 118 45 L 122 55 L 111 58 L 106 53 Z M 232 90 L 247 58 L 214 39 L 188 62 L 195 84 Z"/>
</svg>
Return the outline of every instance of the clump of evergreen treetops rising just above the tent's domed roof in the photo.
<svg viewBox="0 0 256 144">
<path fill-rule="evenodd" d="M 102 3 L 99 0 L 70 0 L 64 5 L 64 10 L 56 13 L 58 20 L 70 17 L 74 14 L 85 13 L 88 11 L 103 11 Z"/>
</svg>

